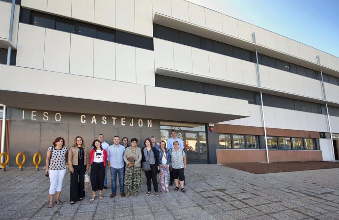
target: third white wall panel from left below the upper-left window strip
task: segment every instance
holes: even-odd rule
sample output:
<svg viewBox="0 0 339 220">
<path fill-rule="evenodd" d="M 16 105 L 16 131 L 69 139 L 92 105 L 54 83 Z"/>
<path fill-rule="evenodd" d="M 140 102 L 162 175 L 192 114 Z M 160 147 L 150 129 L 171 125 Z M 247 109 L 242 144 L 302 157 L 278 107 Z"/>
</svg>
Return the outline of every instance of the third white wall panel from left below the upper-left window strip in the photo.
<svg viewBox="0 0 339 220">
<path fill-rule="evenodd" d="M 94 39 L 71 34 L 69 73 L 93 77 Z"/>
</svg>

